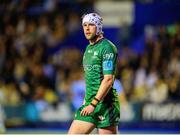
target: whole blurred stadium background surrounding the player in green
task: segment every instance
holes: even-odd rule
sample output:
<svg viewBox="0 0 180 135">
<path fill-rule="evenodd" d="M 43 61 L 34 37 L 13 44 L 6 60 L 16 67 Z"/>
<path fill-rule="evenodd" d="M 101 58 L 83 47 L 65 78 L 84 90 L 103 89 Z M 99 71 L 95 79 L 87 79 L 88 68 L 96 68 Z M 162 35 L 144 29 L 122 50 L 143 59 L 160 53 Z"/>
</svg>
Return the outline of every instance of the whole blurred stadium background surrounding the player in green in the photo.
<svg viewBox="0 0 180 135">
<path fill-rule="evenodd" d="M 67 132 L 94 11 L 119 51 L 120 132 L 180 133 L 179 0 L 0 0 L 1 133 Z"/>
</svg>

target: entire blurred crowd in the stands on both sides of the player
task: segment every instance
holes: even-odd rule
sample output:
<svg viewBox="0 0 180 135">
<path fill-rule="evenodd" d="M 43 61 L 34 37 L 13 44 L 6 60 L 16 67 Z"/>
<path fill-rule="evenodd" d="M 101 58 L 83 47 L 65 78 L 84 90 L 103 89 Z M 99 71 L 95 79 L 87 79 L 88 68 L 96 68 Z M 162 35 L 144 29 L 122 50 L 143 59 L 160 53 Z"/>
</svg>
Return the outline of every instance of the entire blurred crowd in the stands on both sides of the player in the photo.
<svg viewBox="0 0 180 135">
<path fill-rule="evenodd" d="M 49 6 L 46 7 L 48 12 L 35 16 L 27 15 L 30 11 L 21 12 L 31 7 L 27 1 L 20 5 L 15 1 L 1 5 L 0 10 L 7 9 L 7 12 L 0 15 L 0 103 L 4 106 L 26 104 L 30 114 L 33 110 L 46 110 L 41 117 L 48 120 L 54 116 L 54 120 L 58 120 L 55 117 L 58 113 L 49 108 L 58 108 L 62 103 L 69 106 L 71 114 L 82 103 L 85 90 L 83 52 L 76 48 L 62 48 L 51 55 L 47 52 L 70 33 L 81 29 L 81 13 L 63 8 L 63 11 L 52 11 L 56 8 L 48 3 L 50 1 L 44 3 Z M 16 8 L 19 10 L 14 13 Z M 126 100 L 179 101 L 180 24 L 147 25 L 144 35 L 143 53 L 136 53 L 128 45 L 121 45 L 119 50 L 116 77 Z M 60 113 L 67 110 L 67 114 L 67 106 L 60 107 Z M 35 116 L 29 117 L 36 120 Z M 68 118 L 63 115 L 60 119 Z"/>
</svg>

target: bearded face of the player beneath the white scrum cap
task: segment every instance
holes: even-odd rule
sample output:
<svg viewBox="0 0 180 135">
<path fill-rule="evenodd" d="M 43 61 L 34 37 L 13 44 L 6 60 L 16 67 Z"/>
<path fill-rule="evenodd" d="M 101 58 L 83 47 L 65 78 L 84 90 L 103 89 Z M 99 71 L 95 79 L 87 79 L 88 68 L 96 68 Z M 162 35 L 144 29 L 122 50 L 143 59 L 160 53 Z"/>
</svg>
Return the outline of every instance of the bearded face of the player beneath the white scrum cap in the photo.
<svg viewBox="0 0 180 135">
<path fill-rule="evenodd" d="M 96 36 L 96 25 L 91 23 L 83 24 L 84 35 L 86 39 L 92 40 Z"/>
</svg>

